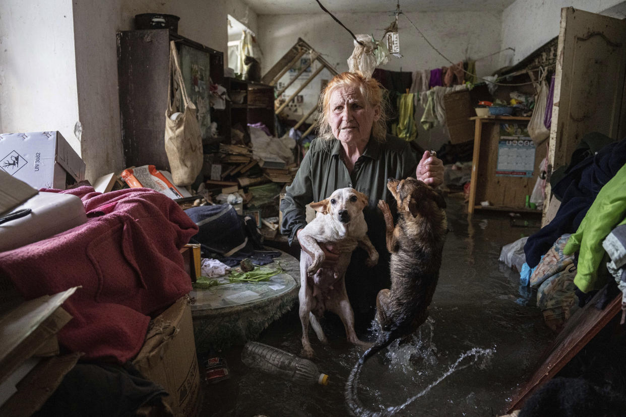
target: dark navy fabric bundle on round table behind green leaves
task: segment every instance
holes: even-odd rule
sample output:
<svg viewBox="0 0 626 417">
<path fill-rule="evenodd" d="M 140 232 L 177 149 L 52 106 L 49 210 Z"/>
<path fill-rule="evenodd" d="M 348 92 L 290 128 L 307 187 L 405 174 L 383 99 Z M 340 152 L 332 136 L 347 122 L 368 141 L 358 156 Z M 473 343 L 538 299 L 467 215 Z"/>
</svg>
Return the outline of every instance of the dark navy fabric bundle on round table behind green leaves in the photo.
<svg viewBox="0 0 626 417">
<path fill-rule="evenodd" d="M 200 244 L 204 258 L 218 259 L 228 266 L 238 265 L 242 259 L 250 258 L 253 264 L 262 266 L 280 256 L 280 251 L 265 249 L 255 221 L 245 220 L 230 204 L 192 207 L 185 213 L 198 225 L 198 233 L 190 242 Z M 242 244 L 241 249 L 226 256 Z"/>
</svg>

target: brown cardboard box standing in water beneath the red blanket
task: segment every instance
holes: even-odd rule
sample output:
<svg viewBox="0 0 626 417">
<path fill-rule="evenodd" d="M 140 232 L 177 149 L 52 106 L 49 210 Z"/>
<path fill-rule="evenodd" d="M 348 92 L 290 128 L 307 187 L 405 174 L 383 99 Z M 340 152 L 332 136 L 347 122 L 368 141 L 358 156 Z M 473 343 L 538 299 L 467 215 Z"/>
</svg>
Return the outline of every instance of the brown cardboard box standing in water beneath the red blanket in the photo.
<svg viewBox="0 0 626 417">
<path fill-rule="evenodd" d="M 184 296 L 150 323 L 133 360 L 143 376 L 165 388 L 175 416 L 200 413 L 200 372 L 193 338 L 192 309 Z"/>
</svg>

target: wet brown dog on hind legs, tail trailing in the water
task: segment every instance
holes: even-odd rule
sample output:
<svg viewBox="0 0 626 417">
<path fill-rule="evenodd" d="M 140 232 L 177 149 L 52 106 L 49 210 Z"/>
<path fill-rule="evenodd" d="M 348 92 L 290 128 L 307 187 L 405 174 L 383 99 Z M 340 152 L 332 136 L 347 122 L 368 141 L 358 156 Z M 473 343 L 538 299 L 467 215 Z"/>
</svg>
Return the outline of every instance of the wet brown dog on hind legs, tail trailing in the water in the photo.
<svg viewBox="0 0 626 417">
<path fill-rule="evenodd" d="M 389 178 L 387 188 L 398 203 L 394 228 L 389 206 L 378 202 L 391 253 L 391 290 L 378 293 L 376 321 L 380 331 L 376 343 L 359 359 L 346 383 L 347 406 L 359 416 L 376 414 L 365 409 L 357 396 L 356 380 L 365 361 L 394 340 L 414 333 L 428 318 L 448 229 L 446 203 L 433 188 L 414 178 Z"/>
</svg>

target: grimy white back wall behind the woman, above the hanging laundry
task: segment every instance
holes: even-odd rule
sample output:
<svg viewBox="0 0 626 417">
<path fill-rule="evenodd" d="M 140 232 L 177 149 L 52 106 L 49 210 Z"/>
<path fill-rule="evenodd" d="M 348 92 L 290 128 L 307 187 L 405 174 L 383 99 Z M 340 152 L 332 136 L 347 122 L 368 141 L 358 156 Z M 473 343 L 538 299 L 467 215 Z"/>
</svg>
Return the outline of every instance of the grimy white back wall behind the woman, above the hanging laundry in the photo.
<svg viewBox="0 0 626 417">
<path fill-rule="evenodd" d="M 337 18 L 355 34 L 373 34 L 381 39 L 393 16 L 387 13 L 339 13 Z M 409 19 L 441 53 L 454 63 L 464 59 L 481 58 L 500 50 L 501 14 L 498 12 L 438 12 L 408 13 Z M 417 71 L 449 66 L 446 59 L 434 51 L 411 26 L 405 16 L 399 16 L 400 51 L 403 58 L 391 57 L 381 66 L 389 71 Z M 259 42 L 265 53 L 262 73 L 266 73 L 297 42 L 304 39 L 323 58 L 336 66 L 337 71 L 347 71 L 347 58 L 354 44 L 351 35 L 326 13 L 259 15 Z M 498 56 L 476 63 L 478 75 L 491 74 L 498 68 Z M 321 83 L 328 79 L 322 74 L 305 90 L 305 103 L 300 114 L 307 113 L 319 96 Z M 283 81 L 287 80 L 285 75 Z M 295 84 L 299 85 L 298 82 Z M 287 90 L 287 93 L 292 89 Z M 312 99 L 313 98 L 313 99 Z M 307 99 L 309 102 L 307 103 Z M 310 119 L 312 121 L 312 119 Z M 424 148 L 439 149 L 447 141 L 441 129 L 419 129 L 418 143 Z"/>
</svg>

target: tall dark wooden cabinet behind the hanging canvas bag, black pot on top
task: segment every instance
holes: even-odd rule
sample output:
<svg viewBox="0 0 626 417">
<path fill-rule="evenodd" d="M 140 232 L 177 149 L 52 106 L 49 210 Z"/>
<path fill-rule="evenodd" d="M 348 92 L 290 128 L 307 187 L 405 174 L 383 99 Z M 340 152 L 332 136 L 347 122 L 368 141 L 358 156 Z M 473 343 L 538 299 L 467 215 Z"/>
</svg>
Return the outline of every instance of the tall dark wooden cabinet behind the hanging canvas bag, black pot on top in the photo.
<svg viewBox="0 0 626 417">
<path fill-rule="evenodd" d="M 223 53 L 220 51 L 183 38 L 168 29 L 118 32 L 118 84 L 125 166 L 151 164 L 157 169 L 170 170 L 164 139 L 170 41 L 176 42 L 179 53 L 181 48 L 192 48 L 197 53 L 205 54 L 211 81 L 224 83 Z M 208 89 L 208 79 L 202 79 L 200 83 L 204 83 L 202 87 Z M 230 139 L 230 117 L 225 109 L 211 108 L 210 121 L 217 123 L 218 136 L 205 133 L 203 143 Z"/>
</svg>

